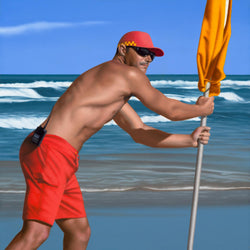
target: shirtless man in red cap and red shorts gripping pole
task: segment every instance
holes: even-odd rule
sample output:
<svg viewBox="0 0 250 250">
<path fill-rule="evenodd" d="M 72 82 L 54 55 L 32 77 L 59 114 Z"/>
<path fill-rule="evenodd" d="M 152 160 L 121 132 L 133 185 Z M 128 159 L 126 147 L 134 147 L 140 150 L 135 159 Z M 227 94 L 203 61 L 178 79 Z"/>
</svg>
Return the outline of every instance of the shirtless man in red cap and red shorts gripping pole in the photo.
<svg viewBox="0 0 250 250">
<path fill-rule="evenodd" d="M 78 152 L 111 119 L 135 142 L 150 147 L 196 147 L 198 139 L 208 143 L 208 127 L 199 127 L 190 135 L 169 134 L 145 125 L 128 104 L 129 98 L 136 96 L 149 109 L 173 121 L 213 112 L 213 97 L 185 104 L 151 86 L 145 73 L 154 56 L 163 54 L 147 33 L 126 33 L 113 60 L 80 75 L 59 98 L 42 124 L 48 122 L 41 145 L 31 141 L 33 133 L 24 140 L 20 149 L 27 183 L 24 223 L 7 249 L 38 248 L 54 221 L 64 232 L 64 249 L 86 249 L 90 227 L 75 177 Z"/>
</svg>

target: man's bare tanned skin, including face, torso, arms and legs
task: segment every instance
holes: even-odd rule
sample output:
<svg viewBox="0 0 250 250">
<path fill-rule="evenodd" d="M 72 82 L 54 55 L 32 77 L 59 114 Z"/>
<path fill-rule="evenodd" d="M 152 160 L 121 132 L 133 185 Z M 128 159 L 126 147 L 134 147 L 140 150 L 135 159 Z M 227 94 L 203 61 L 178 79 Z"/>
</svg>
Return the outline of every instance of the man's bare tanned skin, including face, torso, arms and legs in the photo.
<svg viewBox="0 0 250 250">
<path fill-rule="evenodd" d="M 145 125 L 127 103 L 131 96 L 136 96 L 151 110 L 174 121 L 213 112 L 212 97 L 201 97 L 190 105 L 167 98 L 153 88 L 145 75 L 150 63 L 150 56 L 141 57 L 120 45 L 113 60 L 80 75 L 60 97 L 51 111 L 47 133 L 64 138 L 80 151 L 85 141 L 114 119 L 135 142 L 150 147 L 196 147 L 198 139 L 207 144 L 210 128 L 199 127 L 190 135 L 169 134 Z M 87 248 L 90 237 L 87 218 L 56 222 L 64 232 L 65 250 Z M 6 249 L 36 249 L 47 239 L 50 228 L 42 222 L 25 221 Z"/>
</svg>

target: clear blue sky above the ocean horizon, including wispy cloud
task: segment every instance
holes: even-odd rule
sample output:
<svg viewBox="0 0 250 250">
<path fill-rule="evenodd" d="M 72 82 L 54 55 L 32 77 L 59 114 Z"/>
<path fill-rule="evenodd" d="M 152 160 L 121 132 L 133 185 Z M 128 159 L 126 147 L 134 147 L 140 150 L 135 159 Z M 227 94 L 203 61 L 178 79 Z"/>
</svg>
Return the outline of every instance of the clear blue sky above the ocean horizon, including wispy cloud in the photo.
<svg viewBox="0 0 250 250">
<path fill-rule="evenodd" d="M 206 0 L 2 0 L 0 73 L 81 74 L 113 58 L 120 37 L 148 32 L 165 51 L 148 74 L 197 74 Z M 234 0 L 224 71 L 250 74 L 250 1 Z"/>
</svg>

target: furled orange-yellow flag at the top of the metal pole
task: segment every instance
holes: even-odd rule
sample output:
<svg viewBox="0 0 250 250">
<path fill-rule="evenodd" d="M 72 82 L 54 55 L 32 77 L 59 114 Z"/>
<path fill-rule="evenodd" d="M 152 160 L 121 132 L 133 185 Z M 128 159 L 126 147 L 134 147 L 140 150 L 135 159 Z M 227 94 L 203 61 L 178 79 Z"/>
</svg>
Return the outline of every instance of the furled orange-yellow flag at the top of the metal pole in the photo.
<svg viewBox="0 0 250 250">
<path fill-rule="evenodd" d="M 210 96 L 220 94 L 220 81 L 226 77 L 223 67 L 231 36 L 232 0 L 207 0 L 197 51 L 199 90 Z"/>
</svg>

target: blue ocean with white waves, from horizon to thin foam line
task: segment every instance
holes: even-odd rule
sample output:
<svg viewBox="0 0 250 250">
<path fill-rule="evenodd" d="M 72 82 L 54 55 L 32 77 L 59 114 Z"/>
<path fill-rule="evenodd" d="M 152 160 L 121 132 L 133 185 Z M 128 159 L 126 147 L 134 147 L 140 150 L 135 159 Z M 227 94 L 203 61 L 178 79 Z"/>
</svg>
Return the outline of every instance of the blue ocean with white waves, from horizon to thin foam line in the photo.
<svg viewBox="0 0 250 250">
<path fill-rule="evenodd" d="M 77 75 L 0 76 L 0 193 L 24 194 L 18 166 L 23 139 L 49 115 L 56 100 Z M 194 104 L 202 95 L 197 75 L 148 75 L 151 84 L 170 98 Z M 142 120 L 170 133 L 191 133 L 200 118 L 173 122 L 132 97 Z M 208 117 L 211 139 L 204 149 L 203 191 L 250 190 L 250 75 L 229 75 Z M 77 177 L 83 194 L 137 194 L 191 191 L 197 150 L 156 149 L 136 144 L 113 121 L 80 151 Z M 8 162 L 16 164 L 7 164 Z M 237 192 L 238 196 L 238 192 Z M 249 198 L 249 197 L 248 197 Z M 134 198 L 135 200 L 137 198 Z"/>
</svg>

